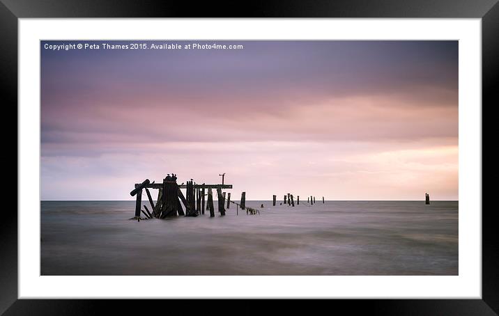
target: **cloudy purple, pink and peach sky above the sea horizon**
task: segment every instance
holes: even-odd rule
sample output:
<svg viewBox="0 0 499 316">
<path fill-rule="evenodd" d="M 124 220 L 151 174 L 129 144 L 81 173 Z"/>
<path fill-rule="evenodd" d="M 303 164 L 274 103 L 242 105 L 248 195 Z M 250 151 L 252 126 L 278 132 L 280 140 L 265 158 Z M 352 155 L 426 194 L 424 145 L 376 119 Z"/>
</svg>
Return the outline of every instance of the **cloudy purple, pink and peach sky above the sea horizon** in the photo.
<svg viewBox="0 0 499 316">
<path fill-rule="evenodd" d="M 46 48 L 71 43 L 100 48 Z M 40 43 L 42 200 L 167 173 L 226 173 L 233 200 L 458 200 L 457 41 L 102 43 Z"/>
</svg>

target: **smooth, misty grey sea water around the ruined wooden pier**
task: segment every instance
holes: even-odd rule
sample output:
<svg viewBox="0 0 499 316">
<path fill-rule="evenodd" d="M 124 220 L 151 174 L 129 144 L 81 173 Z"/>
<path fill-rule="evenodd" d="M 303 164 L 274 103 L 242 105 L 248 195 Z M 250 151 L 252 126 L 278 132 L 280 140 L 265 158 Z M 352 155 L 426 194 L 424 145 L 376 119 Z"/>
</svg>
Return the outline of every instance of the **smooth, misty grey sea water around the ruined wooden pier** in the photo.
<svg viewBox="0 0 499 316">
<path fill-rule="evenodd" d="M 137 222 L 135 201 L 43 201 L 41 274 L 458 274 L 457 201 L 261 203 Z"/>
</svg>

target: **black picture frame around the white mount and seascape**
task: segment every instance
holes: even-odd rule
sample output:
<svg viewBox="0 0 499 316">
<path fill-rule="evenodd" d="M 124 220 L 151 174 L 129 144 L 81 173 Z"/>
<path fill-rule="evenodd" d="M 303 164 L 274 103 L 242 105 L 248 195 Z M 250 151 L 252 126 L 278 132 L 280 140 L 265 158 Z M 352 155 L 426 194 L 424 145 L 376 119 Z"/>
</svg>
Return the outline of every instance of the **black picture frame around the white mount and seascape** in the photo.
<svg viewBox="0 0 499 316">
<path fill-rule="evenodd" d="M 499 104 L 499 4 L 497 0 L 377 0 L 377 1 L 209 1 L 194 6 L 188 1 L 111 0 L 0 0 L 0 80 L 3 110 L 17 117 L 17 19 L 27 17 L 383 17 L 383 18 L 481 18 L 482 19 L 482 117 L 483 110 Z M 460 87 L 461 88 L 461 87 Z M 489 116 L 490 119 L 490 116 Z M 483 121 L 482 121 L 483 122 Z M 483 131 L 483 123 L 482 123 Z M 489 134 L 482 132 L 483 138 Z M 17 143 L 16 143 L 17 147 Z M 11 147 L 13 148 L 13 147 Z M 11 150 L 12 152 L 13 150 Z M 482 150 L 482 168 L 486 159 Z M 19 157 L 17 157 L 18 159 Z M 17 164 L 17 161 L 16 161 Z M 490 166 L 488 162 L 485 162 Z M 489 177 L 497 171 L 487 173 Z M 482 186 L 482 191 L 485 188 Z M 483 196 L 483 193 L 482 193 Z M 482 199 L 482 203 L 484 199 Z M 17 209 L 17 207 L 16 207 Z M 477 210 L 479 212 L 480 210 Z M 3 210 L 6 212 L 6 210 Z M 18 212 L 18 210 L 17 210 Z M 498 315 L 499 243 L 493 208 L 482 207 L 482 299 L 368 299 L 321 300 L 302 303 L 277 301 L 281 313 L 310 313 L 325 309 L 334 313 L 369 311 L 382 315 Z M 5 213 L 6 214 L 6 213 Z M 17 215 L 17 214 L 16 214 Z M 466 236 L 459 236 L 466 238 Z M 0 314 L 3 315 L 95 315 L 152 313 L 159 308 L 173 313 L 261 313 L 267 307 L 259 300 L 144 301 L 104 299 L 17 299 L 17 216 L 0 221 Z M 97 285 L 96 285 L 97 286 Z M 167 285 L 165 285 L 167 286 Z M 143 291 L 144 289 L 137 289 Z M 275 301 L 272 301 L 274 303 Z M 269 303 L 266 301 L 266 305 Z"/>
</svg>

